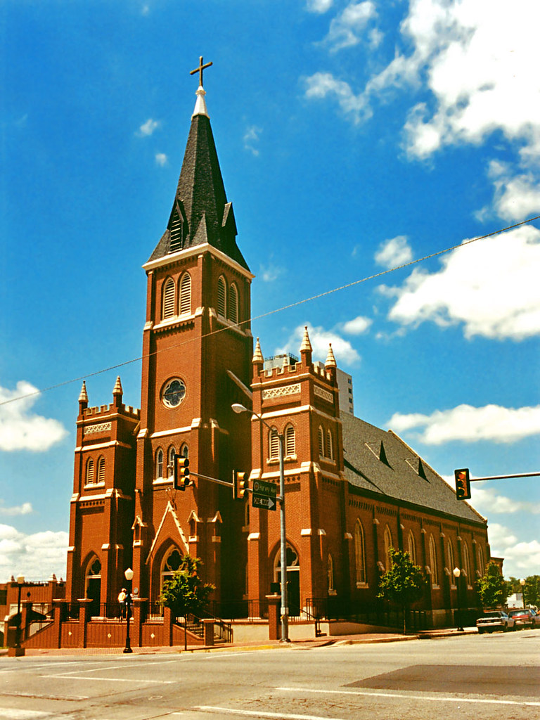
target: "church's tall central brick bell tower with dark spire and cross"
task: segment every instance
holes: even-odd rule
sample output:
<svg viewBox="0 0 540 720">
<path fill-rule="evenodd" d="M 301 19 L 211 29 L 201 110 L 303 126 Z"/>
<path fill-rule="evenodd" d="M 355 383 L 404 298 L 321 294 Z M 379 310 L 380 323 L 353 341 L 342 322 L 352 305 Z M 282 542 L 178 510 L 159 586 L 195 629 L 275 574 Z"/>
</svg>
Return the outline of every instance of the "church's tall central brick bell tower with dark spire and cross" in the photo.
<svg viewBox="0 0 540 720">
<path fill-rule="evenodd" d="M 228 488 L 192 475 L 174 490 L 171 457 L 193 474 L 232 480 L 249 469 L 248 423 L 230 405 L 251 405 L 253 275 L 236 244 L 202 86 L 166 230 L 143 268 L 147 275 L 140 429 L 137 438 L 134 586 L 155 602 L 171 557 L 202 559 L 215 597 L 238 587 L 233 541 L 245 524 Z M 192 73 L 192 74 L 193 74 Z M 174 567 L 172 567 L 174 570 Z M 241 594 L 240 594 L 241 598 Z"/>
</svg>

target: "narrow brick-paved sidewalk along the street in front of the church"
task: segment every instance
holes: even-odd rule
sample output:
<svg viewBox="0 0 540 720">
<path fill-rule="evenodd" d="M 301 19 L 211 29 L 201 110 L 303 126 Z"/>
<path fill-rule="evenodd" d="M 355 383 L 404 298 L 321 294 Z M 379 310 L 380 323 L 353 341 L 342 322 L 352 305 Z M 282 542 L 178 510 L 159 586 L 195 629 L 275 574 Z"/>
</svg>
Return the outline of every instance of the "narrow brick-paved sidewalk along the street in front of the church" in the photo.
<svg viewBox="0 0 540 720">
<path fill-rule="evenodd" d="M 293 640 L 290 643 L 282 643 L 279 640 L 268 640 L 267 642 L 242 642 L 230 643 L 227 645 L 213 646 L 188 646 L 187 650 L 178 645 L 174 647 L 134 647 L 132 654 L 150 655 L 164 654 L 171 652 L 234 652 L 234 651 L 250 651 L 250 650 L 269 650 L 289 647 L 291 649 L 310 649 L 317 647 L 332 647 L 339 645 L 356 645 L 370 644 L 382 642 L 408 642 L 409 640 L 421 639 L 440 639 L 444 637 L 458 637 L 464 635 L 477 634 L 474 627 L 465 628 L 463 632 L 458 632 L 455 628 L 444 628 L 440 630 L 423 630 L 417 633 L 366 633 L 362 635 L 333 635 L 321 636 L 316 638 L 305 638 L 302 640 Z M 124 649 L 122 647 L 70 647 L 70 648 L 28 648 L 24 657 L 57 657 L 59 655 L 122 655 Z M 7 655 L 7 648 L 0 649 L 0 656 Z"/>
</svg>

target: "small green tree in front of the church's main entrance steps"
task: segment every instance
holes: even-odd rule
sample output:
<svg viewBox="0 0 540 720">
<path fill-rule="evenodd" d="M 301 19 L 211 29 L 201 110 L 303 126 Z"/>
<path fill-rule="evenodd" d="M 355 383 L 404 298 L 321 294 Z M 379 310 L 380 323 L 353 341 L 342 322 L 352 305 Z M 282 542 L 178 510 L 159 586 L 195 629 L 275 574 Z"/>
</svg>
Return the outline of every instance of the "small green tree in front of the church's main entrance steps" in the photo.
<svg viewBox="0 0 540 720">
<path fill-rule="evenodd" d="M 184 649 L 187 649 L 187 614 L 197 613 L 204 608 L 208 596 L 215 590 L 215 585 L 202 582 L 199 567 L 202 561 L 198 557 L 183 555 L 179 569 L 174 572 L 171 580 L 163 582 L 163 590 L 159 602 L 171 608 L 176 616 L 184 616 Z"/>
</svg>

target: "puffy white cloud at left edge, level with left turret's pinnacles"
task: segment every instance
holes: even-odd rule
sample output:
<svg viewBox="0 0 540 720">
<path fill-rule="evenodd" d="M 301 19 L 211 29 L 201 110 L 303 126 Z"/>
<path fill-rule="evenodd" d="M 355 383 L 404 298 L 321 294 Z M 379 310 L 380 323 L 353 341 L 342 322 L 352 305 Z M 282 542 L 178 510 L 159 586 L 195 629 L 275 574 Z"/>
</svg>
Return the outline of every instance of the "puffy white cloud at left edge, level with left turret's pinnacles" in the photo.
<svg viewBox="0 0 540 720">
<path fill-rule="evenodd" d="M 24 395 L 32 397 L 22 397 Z M 22 400 L 14 400 L 22 397 Z M 21 380 L 16 390 L 0 387 L 0 451 L 31 450 L 41 452 L 59 443 L 68 435 L 62 423 L 53 418 L 42 418 L 31 412 L 39 397 L 37 388 Z M 12 402 L 9 402 L 12 400 Z"/>
</svg>

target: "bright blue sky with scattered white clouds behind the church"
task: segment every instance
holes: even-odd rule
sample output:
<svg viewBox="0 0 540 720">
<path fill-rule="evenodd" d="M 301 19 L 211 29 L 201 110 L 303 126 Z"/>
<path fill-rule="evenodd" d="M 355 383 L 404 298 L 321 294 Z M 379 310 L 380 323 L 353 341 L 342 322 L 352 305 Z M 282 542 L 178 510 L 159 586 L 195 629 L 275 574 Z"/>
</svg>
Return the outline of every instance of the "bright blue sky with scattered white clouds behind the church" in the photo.
<svg viewBox="0 0 540 720">
<path fill-rule="evenodd" d="M 540 8 L 487 0 L 4 0 L 0 581 L 65 576 L 74 422 L 140 403 L 141 265 L 199 55 L 253 317 L 540 214 Z M 540 469 L 540 222 L 253 321 L 333 343 L 355 412 L 444 477 Z M 67 382 L 78 379 L 76 382 Z M 63 384 L 67 383 L 67 384 Z M 473 485 L 505 575 L 540 573 L 540 482 Z"/>
</svg>

